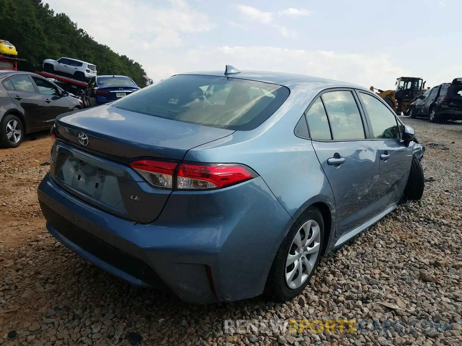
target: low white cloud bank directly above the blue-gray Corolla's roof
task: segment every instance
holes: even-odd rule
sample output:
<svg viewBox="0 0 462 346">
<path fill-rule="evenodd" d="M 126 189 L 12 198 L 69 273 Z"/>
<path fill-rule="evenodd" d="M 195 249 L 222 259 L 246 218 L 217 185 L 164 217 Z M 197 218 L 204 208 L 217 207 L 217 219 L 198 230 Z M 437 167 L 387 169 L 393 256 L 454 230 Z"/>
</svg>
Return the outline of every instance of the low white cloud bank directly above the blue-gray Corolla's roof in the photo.
<svg viewBox="0 0 462 346">
<path fill-rule="evenodd" d="M 380 89 L 394 88 L 395 78 L 409 75 L 408 71 L 395 67 L 386 55 L 339 54 L 276 47 L 201 48 L 190 50 L 182 56 L 166 54 L 163 61 L 162 65 L 149 66 L 154 80 L 182 72 L 224 71 L 226 64 L 241 71 L 299 73 L 351 82 L 366 88 L 373 85 Z"/>
</svg>

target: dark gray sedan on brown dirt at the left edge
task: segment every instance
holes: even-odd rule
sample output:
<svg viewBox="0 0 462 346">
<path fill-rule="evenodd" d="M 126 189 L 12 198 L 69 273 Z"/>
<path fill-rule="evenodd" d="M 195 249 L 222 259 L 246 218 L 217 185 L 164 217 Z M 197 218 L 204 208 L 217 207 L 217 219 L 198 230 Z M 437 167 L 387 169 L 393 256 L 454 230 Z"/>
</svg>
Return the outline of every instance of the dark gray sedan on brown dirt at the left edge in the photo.
<svg viewBox="0 0 462 346">
<path fill-rule="evenodd" d="M 0 146 L 16 148 L 24 134 L 50 129 L 61 113 L 81 103 L 35 73 L 0 71 Z"/>
</svg>

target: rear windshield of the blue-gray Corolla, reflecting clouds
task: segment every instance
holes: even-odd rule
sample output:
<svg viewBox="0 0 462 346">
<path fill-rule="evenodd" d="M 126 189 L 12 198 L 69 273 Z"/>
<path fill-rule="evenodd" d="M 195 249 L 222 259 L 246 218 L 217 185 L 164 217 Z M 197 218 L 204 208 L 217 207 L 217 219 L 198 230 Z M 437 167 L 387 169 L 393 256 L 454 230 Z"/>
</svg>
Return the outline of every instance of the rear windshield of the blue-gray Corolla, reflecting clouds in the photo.
<svg viewBox="0 0 462 346">
<path fill-rule="evenodd" d="M 229 130 L 249 131 L 289 96 L 284 86 L 238 78 L 178 75 L 141 89 L 112 107 Z"/>
</svg>

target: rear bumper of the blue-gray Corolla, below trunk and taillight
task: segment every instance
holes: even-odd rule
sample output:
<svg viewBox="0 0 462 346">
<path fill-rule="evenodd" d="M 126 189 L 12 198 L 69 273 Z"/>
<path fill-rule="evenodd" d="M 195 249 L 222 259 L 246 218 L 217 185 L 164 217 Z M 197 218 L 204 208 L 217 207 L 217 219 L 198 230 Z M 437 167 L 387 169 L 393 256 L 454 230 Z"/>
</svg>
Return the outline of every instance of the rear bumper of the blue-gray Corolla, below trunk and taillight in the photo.
<svg viewBox="0 0 462 346">
<path fill-rule="evenodd" d="M 168 289 L 187 303 L 208 304 L 261 294 L 292 225 L 261 178 L 234 187 L 240 191 L 224 190 L 220 193 L 228 201 L 243 191 L 248 200 L 234 201 L 223 211 L 172 193 L 159 219 L 147 225 L 80 201 L 49 174 L 38 187 L 38 199 L 49 233 L 79 256 L 134 285 Z M 221 215 L 214 215 L 215 209 Z"/>
</svg>

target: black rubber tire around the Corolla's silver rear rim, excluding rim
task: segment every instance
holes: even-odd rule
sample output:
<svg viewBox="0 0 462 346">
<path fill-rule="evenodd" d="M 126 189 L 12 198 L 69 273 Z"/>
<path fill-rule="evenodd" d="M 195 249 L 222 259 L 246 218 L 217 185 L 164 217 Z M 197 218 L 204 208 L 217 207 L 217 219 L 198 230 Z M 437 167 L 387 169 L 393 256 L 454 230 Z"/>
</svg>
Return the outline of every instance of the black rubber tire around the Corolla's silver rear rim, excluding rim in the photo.
<svg viewBox="0 0 462 346">
<path fill-rule="evenodd" d="M 292 241 L 302 225 L 306 221 L 314 220 L 319 225 L 320 229 L 320 244 L 319 244 L 319 252 L 317 253 L 316 262 L 314 262 L 313 269 L 311 270 L 308 278 L 304 281 L 304 283 L 299 286 L 298 288 L 292 289 L 286 283 L 286 261 L 287 256 L 289 255 L 289 251 L 292 248 Z M 274 257 L 273 264 L 271 266 L 270 272 L 268 274 L 267 283 L 265 286 L 265 295 L 267 297 L 274 299 L 277 302 L 286 302 L 291 300 L 292 298 L 297 297 L 308 285 L 311 280 L 311 276 L 315 272 L 320 258 L 321 258 L 321 251 L 324 245 L 324 221 L 322 219 L 322 214 L 319 209 L 315 207 L 310 207 L 309 209 L 305 210 L 305 212 L 300 215 L 297 221 L 294 222 L 291 229 L 287 233 L 286 238 L 282 241 L 282 244 L 279 247 L 278 252 L 276 253 L 276 257 Z M 296 275 L 297 276 L 297 275 Z"/>
</svg>

